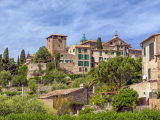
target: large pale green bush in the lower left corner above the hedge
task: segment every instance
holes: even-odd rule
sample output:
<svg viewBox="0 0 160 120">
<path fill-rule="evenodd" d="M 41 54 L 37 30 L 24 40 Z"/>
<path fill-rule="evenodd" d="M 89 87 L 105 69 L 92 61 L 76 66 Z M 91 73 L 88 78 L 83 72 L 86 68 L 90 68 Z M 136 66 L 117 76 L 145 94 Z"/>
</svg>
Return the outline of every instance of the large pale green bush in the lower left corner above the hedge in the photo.
<svg viewBox="0 0 160 120">
<path fill-rule="evenodd" d="M 30 96 L 6 97 L 0 95 L 0 116 L 6 116 L 10 113 L 48 113 L 55 114 L 55 110 L 49 108 L 44 102 Z"/>
</svg>

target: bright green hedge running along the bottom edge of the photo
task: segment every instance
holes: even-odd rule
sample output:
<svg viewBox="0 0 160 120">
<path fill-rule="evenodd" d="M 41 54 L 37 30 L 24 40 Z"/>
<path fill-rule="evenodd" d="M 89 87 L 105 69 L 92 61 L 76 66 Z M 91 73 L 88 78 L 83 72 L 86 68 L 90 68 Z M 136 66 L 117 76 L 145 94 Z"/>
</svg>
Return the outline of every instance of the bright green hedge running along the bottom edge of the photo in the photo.
<svg viewBox="0 0 160 120">
<path fill-rule="evenodd" d="M 43 113 L 23 113 L 23 114 L 9 114 L 5 117 L 0 117 L 3 120 L 159 120 L 160 111 L 145 109 L 141 112 L 124 112 L 115 113 L 113 111 L 99 112 L 97 114 L 91 112 L 80 116 L 62 115 L 54 116 Z"/>
</svg>

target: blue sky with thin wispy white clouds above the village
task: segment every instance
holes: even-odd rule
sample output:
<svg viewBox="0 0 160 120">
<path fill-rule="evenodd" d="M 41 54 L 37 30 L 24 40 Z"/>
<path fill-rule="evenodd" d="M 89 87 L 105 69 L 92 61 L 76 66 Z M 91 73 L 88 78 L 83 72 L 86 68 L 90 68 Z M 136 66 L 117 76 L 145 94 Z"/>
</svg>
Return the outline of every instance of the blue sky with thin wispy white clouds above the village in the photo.
<svg viewBox="0 0 160 120">
<path fill-rule="evenodd" d="M 67 35 L 67 46 L 87 39 L 118 37 L 134 49 L 160 33 L 160 0 L 0 0 L 0 54 L 15 61 L 24 49 L 35 54 L 46 38 Z"/>
</svg>

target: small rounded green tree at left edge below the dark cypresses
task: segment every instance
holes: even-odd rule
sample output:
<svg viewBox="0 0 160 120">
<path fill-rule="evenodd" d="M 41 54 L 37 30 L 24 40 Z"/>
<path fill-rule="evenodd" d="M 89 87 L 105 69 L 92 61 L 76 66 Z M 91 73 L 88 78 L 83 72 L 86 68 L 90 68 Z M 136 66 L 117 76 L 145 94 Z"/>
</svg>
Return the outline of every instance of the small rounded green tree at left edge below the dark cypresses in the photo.
<svg viewBox="0 0 160 120">
<path fill-rule="evenodd" d="M 3 70 L 0 73 L 0 81 L 2 83 L 2 86 L 5 87 L 9 83 L 10 80 L 11 80 L 11 73 L 9 71 Z"/>
</svg>

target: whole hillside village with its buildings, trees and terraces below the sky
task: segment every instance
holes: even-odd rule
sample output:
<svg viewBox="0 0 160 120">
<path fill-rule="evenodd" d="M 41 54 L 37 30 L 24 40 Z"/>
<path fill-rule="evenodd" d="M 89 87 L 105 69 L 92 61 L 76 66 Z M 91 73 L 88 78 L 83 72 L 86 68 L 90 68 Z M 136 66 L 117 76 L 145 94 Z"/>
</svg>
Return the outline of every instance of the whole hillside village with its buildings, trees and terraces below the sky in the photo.
<svg viewBox="0 0 160 120">
<path fill-rule="evenodd" d="M 79 45 L 66 46 L 61 34 L 46 42 L 33 55 L 22 50 L 17 64 L 8 48 L 0 55 L 1 94 L 35 95 L 56 115 L 159 109 L 160 34 L 142 40 L 142 49 L 133 49 L 117 32 L 105 43 L 85 33 Z"/>
</svg>

